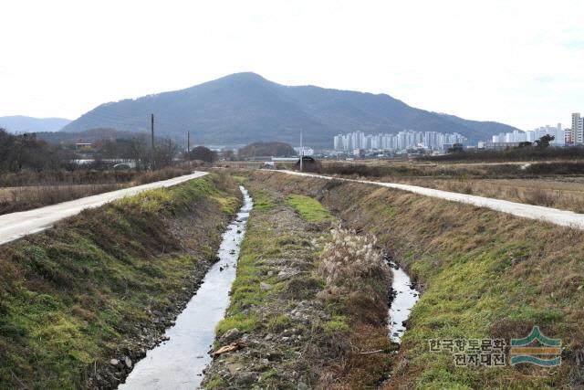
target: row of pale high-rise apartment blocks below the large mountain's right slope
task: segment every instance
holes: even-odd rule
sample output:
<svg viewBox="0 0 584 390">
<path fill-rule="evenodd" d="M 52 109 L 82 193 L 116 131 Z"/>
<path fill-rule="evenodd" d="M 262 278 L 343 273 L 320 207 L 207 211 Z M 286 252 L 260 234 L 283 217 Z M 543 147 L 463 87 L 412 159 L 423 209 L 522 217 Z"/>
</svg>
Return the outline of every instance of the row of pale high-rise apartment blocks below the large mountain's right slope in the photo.
<svg viewBox="0 0 584 390">
<path fill-rule="evenodd" d="M 413 132 L 403 131 L 397 134 L 349 132 L 334 137 L 336 151 L 378 150 L 402 151 L 422 147 L 429 150 L 443 150 L 454 143 L 465 143 L 466 138 L 457 132 Z"/>
</svg>

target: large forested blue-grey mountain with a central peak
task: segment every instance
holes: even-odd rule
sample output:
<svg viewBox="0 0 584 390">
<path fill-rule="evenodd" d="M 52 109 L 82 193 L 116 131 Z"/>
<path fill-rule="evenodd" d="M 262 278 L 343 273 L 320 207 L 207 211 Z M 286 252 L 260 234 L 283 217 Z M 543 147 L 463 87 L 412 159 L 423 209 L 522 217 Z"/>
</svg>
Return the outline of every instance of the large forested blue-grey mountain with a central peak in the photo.
<svg viewBox="0 0 584 390">
<path fill-rule="evenodd" d="M 255 73 L 236 73 L 186 90 L 102 104 L 63 131 L 95 127 L 149 131 L 151 113 L 157 135 L 184 140 L 191 131 L 193 143 L 224 145 L 254 141 L 297 144 L 300 128 L 306 144 L 313 147 L 332 147 L 334 135 L 358 130 L 459 132 L 472 142 L 516 130 L 502 123 L 466 121 L 419 110 L 386 94 L 287 87 Z"/>
</svg>

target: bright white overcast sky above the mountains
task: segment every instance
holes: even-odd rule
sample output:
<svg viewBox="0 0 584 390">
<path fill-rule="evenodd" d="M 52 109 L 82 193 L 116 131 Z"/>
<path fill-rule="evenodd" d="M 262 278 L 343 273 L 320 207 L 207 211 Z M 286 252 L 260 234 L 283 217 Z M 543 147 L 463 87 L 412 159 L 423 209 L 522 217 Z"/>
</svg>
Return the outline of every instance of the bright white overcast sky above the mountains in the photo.
<svg viewBox="0 0 584 390">
<path fill-rule="evenodd" d="M 0 16 L 0 116 L 75 119 L 240 71 L 523 130 L 584 111 L 582 0 L 14 0 Z"/>
</svg>

